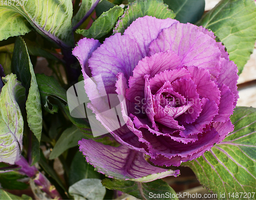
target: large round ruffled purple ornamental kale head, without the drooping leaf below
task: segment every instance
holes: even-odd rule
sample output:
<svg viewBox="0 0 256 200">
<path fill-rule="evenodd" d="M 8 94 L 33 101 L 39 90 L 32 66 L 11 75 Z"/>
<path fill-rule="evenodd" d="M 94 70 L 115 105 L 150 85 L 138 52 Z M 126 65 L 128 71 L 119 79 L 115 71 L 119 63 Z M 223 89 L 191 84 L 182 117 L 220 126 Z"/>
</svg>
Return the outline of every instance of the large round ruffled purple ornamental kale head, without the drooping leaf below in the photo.
<svg viewBox="0 0 256 200">
<path fill-rule="evenodd" d="M 106 93 L 125 97 L 126 124 L 112 136 L 156 165 L 198 158 L 233 130 L 238 69 L 203 27 L 145 16 L 103 44 L 80 40 L 73 54 L 84 78 L 101 74 Z"/>
</svg>

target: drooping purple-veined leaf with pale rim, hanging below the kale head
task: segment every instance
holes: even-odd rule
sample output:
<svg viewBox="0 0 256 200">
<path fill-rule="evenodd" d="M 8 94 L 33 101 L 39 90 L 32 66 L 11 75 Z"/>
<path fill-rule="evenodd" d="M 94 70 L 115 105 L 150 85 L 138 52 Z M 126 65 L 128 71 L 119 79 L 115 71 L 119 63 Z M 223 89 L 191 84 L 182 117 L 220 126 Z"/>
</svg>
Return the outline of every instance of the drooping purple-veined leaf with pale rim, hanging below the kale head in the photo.
<svg viewBox="0 0 256 200">
<path fill-rule="evenodd" d="M 151 182 L 179 175 L 179 170 L 173 171 L 151 165 L 146 162 L 143 153 L 125 146 L 108 146 L 86 139 L 80 140 L 78 145 L 87 162 L 111 178 Z"/>
</svg>

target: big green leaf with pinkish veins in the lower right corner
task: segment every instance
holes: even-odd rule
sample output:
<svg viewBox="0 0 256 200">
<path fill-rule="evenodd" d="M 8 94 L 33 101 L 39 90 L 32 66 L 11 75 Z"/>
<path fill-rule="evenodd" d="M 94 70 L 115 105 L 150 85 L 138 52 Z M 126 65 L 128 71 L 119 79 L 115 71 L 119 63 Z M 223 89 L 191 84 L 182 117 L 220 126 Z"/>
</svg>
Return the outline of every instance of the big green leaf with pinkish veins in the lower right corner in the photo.
<svg viewBox="0 0 256 200">
<path fill-rule="evenodd" d="M 225 193 L 225 199 L 253 199 L 241 197 L 241 193 L 252 195 L 256 188 L 256 109 L 238 107 L 230 118 L 234 131 L 209 152 L 184 165 L 193 169 L 201 184 L 219 198 Z M 233 192 L 241 193 L 239 197 L 231 196 Z"/>
</svg>

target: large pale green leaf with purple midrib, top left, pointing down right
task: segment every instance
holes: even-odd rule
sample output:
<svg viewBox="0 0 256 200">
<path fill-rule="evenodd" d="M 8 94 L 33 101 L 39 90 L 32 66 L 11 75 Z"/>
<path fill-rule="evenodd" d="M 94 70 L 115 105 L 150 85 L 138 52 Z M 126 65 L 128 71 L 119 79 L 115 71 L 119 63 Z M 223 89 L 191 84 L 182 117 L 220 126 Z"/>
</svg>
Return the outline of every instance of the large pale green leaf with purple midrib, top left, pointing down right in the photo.
<svg viewBox="0 0 256 200">
<path fill-rule="evenodd" d="M 0 5 L 2 12 L 12 11 L 17 16 L 22 15 L 23 17 L 20 16 L 19 21 L 26 19 L 38 33 L 61 47 L 68 48 L 73 45 L 72 2 L 70 0 L 28 0 L 19 1 L 19 3 L 16 0 L 10 0 L 10 2 L 11 5 Z M 23 24 L 20 23 L 21 26 L 24 26 Z"/>
</svg>

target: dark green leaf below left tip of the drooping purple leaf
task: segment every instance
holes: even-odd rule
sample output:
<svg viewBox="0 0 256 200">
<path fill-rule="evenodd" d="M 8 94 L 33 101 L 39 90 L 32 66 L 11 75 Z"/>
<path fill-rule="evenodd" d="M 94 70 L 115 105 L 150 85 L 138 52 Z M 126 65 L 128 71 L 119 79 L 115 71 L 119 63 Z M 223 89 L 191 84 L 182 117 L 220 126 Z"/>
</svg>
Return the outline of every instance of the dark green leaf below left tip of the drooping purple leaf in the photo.
<svg viewBox="0 0 256 200">
<path fill-rule="evenodd" d="M 81 152 L 77 152 L 70 166 L 69 184 L 73 185 L 82 179 L 100 179 L 100 174 L 86 162 Z"/>
</svg>

